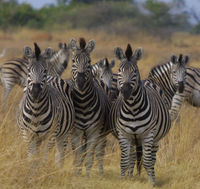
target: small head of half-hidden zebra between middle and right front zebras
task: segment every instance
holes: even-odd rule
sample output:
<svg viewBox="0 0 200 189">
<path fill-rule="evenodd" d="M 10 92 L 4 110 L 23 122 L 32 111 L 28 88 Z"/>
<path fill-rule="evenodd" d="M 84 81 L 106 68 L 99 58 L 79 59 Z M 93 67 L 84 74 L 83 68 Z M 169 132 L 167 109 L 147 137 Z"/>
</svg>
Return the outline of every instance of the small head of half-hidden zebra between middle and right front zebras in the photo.
<svg viewBox="0 0 200 189">
<path fill-rule="evenodd" d="M 105 58 L 98 62 L 99 69 L 97 73 L 97 77 L 99 80 L 103 81 L 103 83 L 110 89 L 112 87 L 113 80 L 113 72 L 112 68 L 115 66 L 115 61 L 112 60 L 110 63 L 108 59 Z"/>
</svg>

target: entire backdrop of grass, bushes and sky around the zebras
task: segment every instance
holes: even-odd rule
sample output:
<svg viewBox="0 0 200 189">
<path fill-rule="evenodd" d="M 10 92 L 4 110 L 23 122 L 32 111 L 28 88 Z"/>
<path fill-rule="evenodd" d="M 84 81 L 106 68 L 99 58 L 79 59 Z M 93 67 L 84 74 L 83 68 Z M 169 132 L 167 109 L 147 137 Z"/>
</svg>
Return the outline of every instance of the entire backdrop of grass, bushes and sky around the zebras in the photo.
<svg viewBox="0 0 200 189">
<path fill-rule="evenodd" d="M 190 65 L 200 68 L 200 1 L 199 0 L 0 0 L 0 64 L 23 56 L 23 47 L 33 42 L 44 50 L 58 49 L 59 42 L 70 38 L 94 39 L 92 64 L 108 57 L 115 59 L 114 47 L 143 48 L 138 62 L 142 79 L 150 69 L 170 60 L 172 54 L 190 56 Z M 114 72 L 118 70 L 116 62 Z M 71 76 L 71 60 L 63 78 Z M 0 87 L 2 94 L 2 87 Z M 70 145 L 65 166 L 57 169 L 54 152 L 44 167 L 36 167 L 32 178 L 26 144 L 16 124 L 16 108 L 23 89 L 15 87 L 6 108 L 0 110 L 0 188 L 142 188 L 149 189 L 146 172 L 133 180 L 120 180 L 120 149 L 109 135 L 105 155 L 105 176 L 93 166 L 90 179 L 85 168 L 73 175 Z M 187 103 L 182 106 L 180 121 L 173 123 L 161 141 L 156 162 L 157 186 L 165 189 L 200 188 L 200 110 Z M 41 157 L 38 157 L 41 158 Z"/>
</svg>

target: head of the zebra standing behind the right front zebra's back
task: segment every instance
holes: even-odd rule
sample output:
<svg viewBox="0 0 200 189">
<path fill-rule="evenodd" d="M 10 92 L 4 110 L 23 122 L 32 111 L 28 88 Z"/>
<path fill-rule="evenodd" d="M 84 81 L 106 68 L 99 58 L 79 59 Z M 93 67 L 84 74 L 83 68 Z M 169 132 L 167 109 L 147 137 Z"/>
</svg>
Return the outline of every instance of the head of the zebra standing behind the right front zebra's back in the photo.
<svg viewBox="0 0 200 189">
<path fill-rule="evenodd" d="M 179 93 L 184 91 L 184 83 L 186 78 L 186 65 L 189 62 L 189 57 L 183 57 L 182 54 L 179 55 L 179 58 L 176 56 L 171 57 L 172 68 L 171 68 L 171 79 L 175 87 L 178 89 Z"/>
</svg>

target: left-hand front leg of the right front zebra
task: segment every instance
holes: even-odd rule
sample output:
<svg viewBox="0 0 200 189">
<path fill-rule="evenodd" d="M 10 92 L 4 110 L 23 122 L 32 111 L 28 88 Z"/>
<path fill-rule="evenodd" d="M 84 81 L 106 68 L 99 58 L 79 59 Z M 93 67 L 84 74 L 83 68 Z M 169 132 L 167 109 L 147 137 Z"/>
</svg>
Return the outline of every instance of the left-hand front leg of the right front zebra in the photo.
<svg viewBox="0 0 200 189">
<path fill-rule="evenodd" d="M 121 179 L 125 177 L 125 173 L 129 168 L 131 142 L 126 137 L 119 135 L 119 145 L 121 148 Z"/>
</svg>

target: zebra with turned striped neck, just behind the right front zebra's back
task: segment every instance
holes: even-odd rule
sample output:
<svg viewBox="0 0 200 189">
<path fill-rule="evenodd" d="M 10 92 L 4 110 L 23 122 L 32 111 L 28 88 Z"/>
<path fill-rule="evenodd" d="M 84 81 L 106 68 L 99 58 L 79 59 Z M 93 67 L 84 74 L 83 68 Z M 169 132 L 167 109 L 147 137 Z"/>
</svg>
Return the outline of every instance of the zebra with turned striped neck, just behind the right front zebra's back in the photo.
<svg viewBox="0 0 200 189">
<path fill-rule="evenodd" d="M 173 107 L 172 99 L 176 94 L 183 94 L 186 82 L 186 65 L 189 57 L 182 54 L 177 58 L 171 56 L 171 61 L 157 65 L 151 69 L 148 81 L 156 83 L 162 90 L 162 97 L 170 111 L 171 120 L 174 121 L 178 115 L 178 109 Z"/>
</svg>

